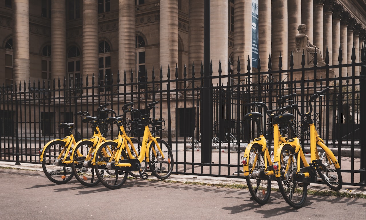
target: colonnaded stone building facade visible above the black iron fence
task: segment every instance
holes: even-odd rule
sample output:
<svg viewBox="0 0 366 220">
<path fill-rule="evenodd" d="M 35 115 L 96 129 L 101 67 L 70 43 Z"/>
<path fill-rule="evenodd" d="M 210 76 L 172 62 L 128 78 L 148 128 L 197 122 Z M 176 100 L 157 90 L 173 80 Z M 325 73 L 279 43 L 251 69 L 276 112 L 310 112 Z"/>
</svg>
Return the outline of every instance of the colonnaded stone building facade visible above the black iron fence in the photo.
<svg viewBox="0 0 366 220">
<path fill-rule="evenodd" d="M 330 65 L 338 64 L 340 46 L 343 63 L 351 62 L 353 45 L 358 62 L 365 43 L 365 0 L 209 3 L 213 74 L 218 74 L 220 61 L 223 70 L 228 69 L 227 60 L 236 70 L 238 59 L 246 62 L 256 53 L 262 71 L 269 54 L 272 69 L 279 68 L 280 53 L 285 58 L 282 68 L 288 68 L 291 52 L 294 59 L 298 57 L 295 36 L 300 24 L 306 24 L 309 41 L 323 54 L 328 48 Z M 179 78 L 186 65 L 189 78 L 192 64 L 199 66 L 203 60 L 204 0 L 4 0 L 1 4 L 0 85 L 66 78 L 75 86 L 80 77 L 93 74 L 106 76 L 101 84 L 108 84 L 111 73 L 132 71 L 136 80 L 138 69 L 150 73 L 153 67 L 166 70 L 168 65 L 178 65 Z"/>
</svg>

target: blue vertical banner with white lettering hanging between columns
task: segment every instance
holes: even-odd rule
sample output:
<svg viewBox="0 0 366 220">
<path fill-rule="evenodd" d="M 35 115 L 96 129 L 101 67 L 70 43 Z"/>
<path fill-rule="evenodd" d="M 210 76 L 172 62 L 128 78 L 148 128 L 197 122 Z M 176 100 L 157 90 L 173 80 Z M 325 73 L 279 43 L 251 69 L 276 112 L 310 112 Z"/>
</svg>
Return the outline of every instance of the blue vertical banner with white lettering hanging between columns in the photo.
<svg viewBox="0 0 366 220">
<path fill-rule="evenodd" d="M 258 0 L 252 0 L 252 67 L 258 67 Z"/>
</svg>

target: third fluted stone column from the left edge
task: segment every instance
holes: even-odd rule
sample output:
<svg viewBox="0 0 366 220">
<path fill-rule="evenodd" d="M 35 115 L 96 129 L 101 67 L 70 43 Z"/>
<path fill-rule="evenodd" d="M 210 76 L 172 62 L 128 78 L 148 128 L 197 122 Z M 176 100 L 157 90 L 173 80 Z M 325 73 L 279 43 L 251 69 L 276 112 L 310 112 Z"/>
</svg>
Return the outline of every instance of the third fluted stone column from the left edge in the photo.
<svg viewBox="0 0 366 220">
<path fill-rule="evenodd" d="M 83 0 L 83 79 L 98 76 L 98 4 Z"/>
</svg>

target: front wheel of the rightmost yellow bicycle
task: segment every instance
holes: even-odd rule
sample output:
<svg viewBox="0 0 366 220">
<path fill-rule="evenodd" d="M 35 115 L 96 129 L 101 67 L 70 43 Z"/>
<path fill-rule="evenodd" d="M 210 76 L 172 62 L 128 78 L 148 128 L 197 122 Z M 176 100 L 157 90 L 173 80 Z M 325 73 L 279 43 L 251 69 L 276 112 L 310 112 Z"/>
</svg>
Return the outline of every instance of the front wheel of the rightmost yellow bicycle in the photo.
<svg viewBox="0 0 366 220">
<path fill-rule="evenodd" d="M 336 168 L 330 157 L 334 155 L 327 154 L 318 144 L 317 150 L 319 157 L 322 160 L 322 167 L 318 169 L 318 174 L 321 179 L 331 188 L 332 190 L 338 191 L 342 188 L 343 180 L 341 175 L 341 169 Z"/>
</svg>

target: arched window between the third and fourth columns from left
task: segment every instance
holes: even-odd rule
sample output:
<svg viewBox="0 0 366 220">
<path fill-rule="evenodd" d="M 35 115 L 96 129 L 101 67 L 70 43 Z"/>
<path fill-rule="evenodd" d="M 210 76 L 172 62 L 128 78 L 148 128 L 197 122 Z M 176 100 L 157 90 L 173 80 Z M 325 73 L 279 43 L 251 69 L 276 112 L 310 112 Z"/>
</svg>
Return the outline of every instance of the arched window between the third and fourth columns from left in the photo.
<svg viewBox="0 0 366 220">
<path fill-rule="evenodd" d="M 111 47 L 107 41 L 99 42 L 99 77 L 100 85 L 111 85 Z M 100 91 L 103 91 L 101 89 Z M 111 88 L 106 88 L 111 91 Z"/>
</svg>

